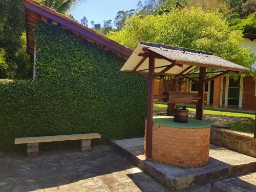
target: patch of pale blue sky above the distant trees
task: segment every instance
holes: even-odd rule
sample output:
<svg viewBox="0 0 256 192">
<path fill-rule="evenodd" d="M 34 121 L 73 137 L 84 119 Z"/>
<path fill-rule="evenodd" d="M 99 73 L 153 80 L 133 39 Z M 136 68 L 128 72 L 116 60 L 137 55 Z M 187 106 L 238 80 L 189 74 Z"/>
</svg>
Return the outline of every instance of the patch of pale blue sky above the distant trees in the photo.
<svg viewBox="0 0 256 192">
<path fill-rule="evenodd" d="M 80 22 L 83 16 L 88 20 L 88 26 L 91 26 L 91 20 L 95 24 L 103 26 L 103 20 L 112 20 L 119 10 L 136 9 L 139 0 L 86 0 L 80 3 L 71 12 L 73 17 Z"/>
</svg>

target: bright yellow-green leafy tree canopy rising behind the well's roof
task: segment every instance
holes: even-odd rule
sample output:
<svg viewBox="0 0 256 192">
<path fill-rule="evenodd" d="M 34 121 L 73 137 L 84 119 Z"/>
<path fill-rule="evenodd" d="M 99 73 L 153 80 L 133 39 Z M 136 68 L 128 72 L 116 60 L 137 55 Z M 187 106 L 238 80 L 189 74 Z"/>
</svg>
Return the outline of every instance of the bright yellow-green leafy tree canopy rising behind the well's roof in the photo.
<svg viewBox="0 0 256 192">
<path fill-rule="evenodd" d="M 214 53 L 224 59 L 251 68 L 251 50 L 239 45 L 240 30 L 231 30 L 218 12 L 202 8 L 173 9 L 163 15 L 133 15 L 121 31 L 108 37 L 134 49 L 140 40 L 186 47 Z"/>
</svg>

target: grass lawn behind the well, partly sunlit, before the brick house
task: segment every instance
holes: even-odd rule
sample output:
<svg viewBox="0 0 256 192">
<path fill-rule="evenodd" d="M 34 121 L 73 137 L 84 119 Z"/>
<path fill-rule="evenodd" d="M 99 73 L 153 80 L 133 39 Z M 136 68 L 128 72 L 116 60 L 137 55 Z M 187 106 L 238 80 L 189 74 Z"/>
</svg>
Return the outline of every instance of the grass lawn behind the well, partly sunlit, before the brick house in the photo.
<svg viewBox="0 0 256 192">
<path fill-rule="evenodd" d="M 166 112 L 167 104 L 162 103 L 154 103 L 154 112 L 155 113 L 163 113 Z M 187 107 L 187 109 L 191 112 L 196 112 L 196 108 L 193 107 Z M 249 133 L 253 134 L 254 131 L 254 114 L 249 113 L 241 113 L 241 112 L 229 112 L 229 111 L 220 111 L 220 110 L 214 110 L 214 109 L 205 109 L 205 114 L 211 114 L 211 115 L 221 115 L 221 116 L 229 116 L 229 117 L 243 117 L 248 118 L 248 120 L 243 120 L 236 123 L 229 123 L 227 125 L 230 126 L 230 129 L 233 131 L 243 132 L 243 133 Z"/>
</svg>

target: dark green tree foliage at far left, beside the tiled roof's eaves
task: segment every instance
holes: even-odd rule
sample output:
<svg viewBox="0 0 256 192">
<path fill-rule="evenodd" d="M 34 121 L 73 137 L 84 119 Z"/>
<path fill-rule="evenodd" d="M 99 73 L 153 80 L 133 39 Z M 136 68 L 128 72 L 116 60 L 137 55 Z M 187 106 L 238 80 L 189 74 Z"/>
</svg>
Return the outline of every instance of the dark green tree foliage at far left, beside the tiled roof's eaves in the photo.
<svg viewBox="0 0 256 192">
<path fill-rule="evenodd" d="M 32 61 L 27 54 L 22 1 L 0 2 L 0 78 L 32 77 Z"/>
</svg>

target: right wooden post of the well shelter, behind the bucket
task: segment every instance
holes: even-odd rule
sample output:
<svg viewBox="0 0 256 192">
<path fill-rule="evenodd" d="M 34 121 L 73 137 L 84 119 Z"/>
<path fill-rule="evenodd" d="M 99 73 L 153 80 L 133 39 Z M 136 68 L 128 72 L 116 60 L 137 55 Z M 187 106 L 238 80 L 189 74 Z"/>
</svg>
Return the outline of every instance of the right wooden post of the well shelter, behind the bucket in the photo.
<svg viewBox="0 0 256 192">
<path fill-rule="evenodd" d="M 199 81 L 198 83 L 198 99 L 197 102 L 197 111 L 196 111 L 196 119 L 202 120 L 204 115 L 204 89 L 205 89 L 205 67 L 200 67 L 199 69 Z"/>
</svg>

